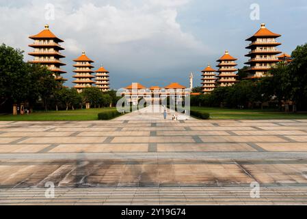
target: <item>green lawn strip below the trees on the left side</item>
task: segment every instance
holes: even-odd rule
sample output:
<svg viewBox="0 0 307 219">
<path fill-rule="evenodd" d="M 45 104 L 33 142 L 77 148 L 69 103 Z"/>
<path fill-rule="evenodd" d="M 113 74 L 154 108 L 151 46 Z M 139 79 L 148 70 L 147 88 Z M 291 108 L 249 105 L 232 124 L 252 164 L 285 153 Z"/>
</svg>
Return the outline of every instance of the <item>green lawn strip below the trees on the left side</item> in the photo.
<svg viewBox="0 0 307 219">
<path fill-rule="evenodd" d="M 0 115 L 1 121 L 56 121 L 56 120 L 98 120 L 98 113 L 116 108 L 101 108 L 90 110 L 68 110 L 34 112 L 30 115 Z"/>
</svg>

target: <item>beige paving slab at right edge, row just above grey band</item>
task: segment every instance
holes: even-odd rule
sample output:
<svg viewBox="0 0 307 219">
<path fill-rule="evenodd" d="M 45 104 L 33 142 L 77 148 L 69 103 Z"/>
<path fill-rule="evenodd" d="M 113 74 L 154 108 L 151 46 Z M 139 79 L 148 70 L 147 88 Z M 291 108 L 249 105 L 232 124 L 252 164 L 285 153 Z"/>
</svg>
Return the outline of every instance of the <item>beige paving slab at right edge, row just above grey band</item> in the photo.
<svg viewBox="0 0 307 219">
<path fill-rule="evenodd" d="M 257 143 L 266 151 L 307 151 L 306 143 Z"/>
</svg>

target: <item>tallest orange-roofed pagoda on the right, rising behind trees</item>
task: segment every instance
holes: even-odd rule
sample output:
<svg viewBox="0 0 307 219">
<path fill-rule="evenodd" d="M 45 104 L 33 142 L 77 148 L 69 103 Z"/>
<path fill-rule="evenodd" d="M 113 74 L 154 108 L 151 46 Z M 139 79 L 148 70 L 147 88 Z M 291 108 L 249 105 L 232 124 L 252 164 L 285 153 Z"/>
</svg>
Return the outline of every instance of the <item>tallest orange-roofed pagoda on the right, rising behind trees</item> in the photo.
<svg viewBox="0 0 307 219">
<path fill-rule="evenodd" d="M 276 38 L 279 38 L 280 34 L 274 34 L 272 31 L 265 27 L 265 24 L 261 24 L 259 29 L 254 36 L 251 36 L 246 41 L 251 41 L 246 49 L 250 49 L 250 53 L 245 55 L 250 57 L 250 60 L 245 64 L 250 65 L 248 70 L 248 79 L 255 79 L 267 76 L 267 72 L 271 67 L 276 66 L 279 62 L 276 55 L 281 52 L 276 49 L 280 42 L 277 42 Z"/>
</svg>

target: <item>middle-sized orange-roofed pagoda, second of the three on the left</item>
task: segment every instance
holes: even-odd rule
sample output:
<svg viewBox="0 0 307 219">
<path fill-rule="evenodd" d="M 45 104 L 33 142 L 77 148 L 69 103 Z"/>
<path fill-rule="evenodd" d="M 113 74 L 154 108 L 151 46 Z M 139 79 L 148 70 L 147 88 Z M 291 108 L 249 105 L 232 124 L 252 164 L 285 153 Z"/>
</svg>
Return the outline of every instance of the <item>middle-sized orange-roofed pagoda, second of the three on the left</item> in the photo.
<svg viewBox="0 0 307 219">
<path fill-rule="evenodd" d="M 76 62 L 74 65 L 76 69 L 73 71 L 76 73 L 76 75 L 73 76 L 76 80 L 72 83 L 77 83 L 74 88 L 76 88 L 78 92 L 82 92 L 84 88 L 90 88 L 92 87 L 92 84 L 95 83 L 92 81 L 94 78 L 92 75 L 92 73 L 94 73 L 92 71 L 92 68 L 94 68 L 92 63 L 94 61 L 90 60 L 90 58 L 85 55 L 85 51 L 82 52 L 80 57 L 73 61 Z"/>
</svg>

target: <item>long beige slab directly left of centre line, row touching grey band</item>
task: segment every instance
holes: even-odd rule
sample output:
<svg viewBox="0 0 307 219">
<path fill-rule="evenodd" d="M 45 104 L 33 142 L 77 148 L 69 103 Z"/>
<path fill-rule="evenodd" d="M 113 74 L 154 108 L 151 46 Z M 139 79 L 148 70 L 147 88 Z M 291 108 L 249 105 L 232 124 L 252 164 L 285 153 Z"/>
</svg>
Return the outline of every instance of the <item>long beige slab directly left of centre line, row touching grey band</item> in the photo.
<svg viewBox="0 0 307 219">
<path fill-rule="evenodd" d="M 49 153 L 147 152 L 148 144 L 60 144 Z"/>
</svg>

